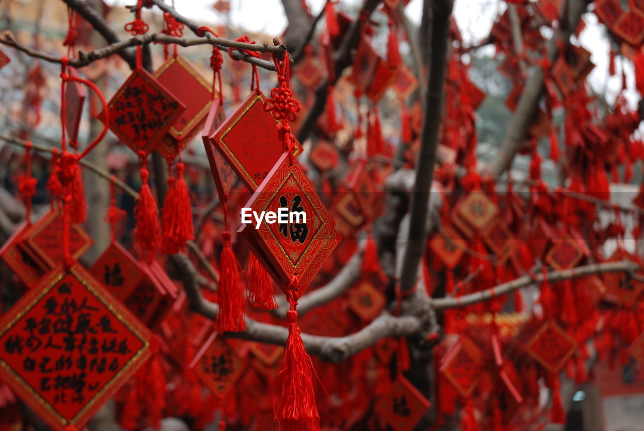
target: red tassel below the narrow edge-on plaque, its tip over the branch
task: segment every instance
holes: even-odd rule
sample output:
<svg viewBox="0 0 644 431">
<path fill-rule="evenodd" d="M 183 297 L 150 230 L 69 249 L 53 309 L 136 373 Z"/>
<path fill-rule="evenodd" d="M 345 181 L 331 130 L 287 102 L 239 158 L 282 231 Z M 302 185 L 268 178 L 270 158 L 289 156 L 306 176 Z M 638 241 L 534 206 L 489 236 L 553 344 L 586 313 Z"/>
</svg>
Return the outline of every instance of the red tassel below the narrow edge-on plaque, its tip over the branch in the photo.
<svg viewBox="0 0 644 431">
<path fill-rule="evenodd" d="M 220 331 L 242 332 L 246 330 L 244 300 L 240 288 L 239 266 L 231 248 L 231 233 L 223 232 L 223 250 L 219 257 L 219 313 L 217 324 Z"/>
</svg>

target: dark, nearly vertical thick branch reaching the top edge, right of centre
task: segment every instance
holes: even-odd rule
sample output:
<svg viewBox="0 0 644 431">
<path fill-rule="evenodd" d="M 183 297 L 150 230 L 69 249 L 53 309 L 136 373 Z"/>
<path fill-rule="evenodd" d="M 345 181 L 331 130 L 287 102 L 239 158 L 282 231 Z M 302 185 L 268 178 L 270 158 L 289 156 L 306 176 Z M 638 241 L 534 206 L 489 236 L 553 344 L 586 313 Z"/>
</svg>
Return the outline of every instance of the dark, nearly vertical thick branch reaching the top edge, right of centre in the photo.
<svg viewBox="0 0 644 431">
<path fill-rule="evenodd" d="M 400 289 L 403 292 L 411 291 L 415 287 L 418 265 L 424 250 L 427 210 L 442 118 L 452 2 L 451 0 L 435 2 L 431 7 L 433 7 L 431 59 L 427 77 L 428 87 L 424 95 L 421 149 L 416 162 L 409 235 L 400 278 Z"/>
</svg>

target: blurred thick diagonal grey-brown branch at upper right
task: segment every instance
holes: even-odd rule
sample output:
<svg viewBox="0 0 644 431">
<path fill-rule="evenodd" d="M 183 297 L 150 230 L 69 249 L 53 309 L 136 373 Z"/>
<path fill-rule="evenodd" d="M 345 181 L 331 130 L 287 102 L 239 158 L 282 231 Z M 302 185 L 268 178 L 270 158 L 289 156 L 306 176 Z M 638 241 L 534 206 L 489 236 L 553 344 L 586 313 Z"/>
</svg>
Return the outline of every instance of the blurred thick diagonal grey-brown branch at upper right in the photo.
<svg viewBox="0 0 644 431">
<path fill-rule="evenodd" d="M 579 23 L 586 6 L 586 0 L 564 1 L 561 15 L 565 13 L 566 19 L 562 19 L 561 38 L 555 32 L 548 42 L 547 57 L 551 62 L 554 62 L 558 55 L 557 41 L 561 39 L 565 46 L 569 44 L 570 35 Z M 495 176 L 502 174 L 510 167 L 516 152 L 524 145 L 527 129 L 534 120 L 534 113 L 543 89 L 544 71 L 540 67 L 535 67 L 533 68 L 533 75 L 527 80 L 524 91 L 519 98 L 515 114 L 512 116 L 510 125 L 507 128 L 506 137 L 497 156 L 491 162 L 491 171 Z"/>
</svg>

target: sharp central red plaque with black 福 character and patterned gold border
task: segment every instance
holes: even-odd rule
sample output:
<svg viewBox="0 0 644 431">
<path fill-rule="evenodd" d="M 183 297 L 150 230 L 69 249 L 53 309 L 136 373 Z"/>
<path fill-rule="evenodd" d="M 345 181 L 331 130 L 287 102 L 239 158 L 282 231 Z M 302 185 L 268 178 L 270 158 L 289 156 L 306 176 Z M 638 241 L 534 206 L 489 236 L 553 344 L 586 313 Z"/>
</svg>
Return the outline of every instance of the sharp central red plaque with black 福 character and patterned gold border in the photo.
<svg viewBox="0 0 644 431">
<path fill-rule="evenodd" d="M 286 291 L 293 275 L 297 275 L 299 297 L 336 248 L 340 235 L 307 174 L 297 160 L 292 161 L 291 165 L 289 153 L 283 153 L 244 206 L 257 214 L 277 213 L 278 208 L 304 212 L 306 223 L 294 218 L 293 223 L 270 224 L 264 218 L 259 228 L 242 224 L 238 232 L 249 239 L 252 250 L 265 262 L 281 289 Z"/>
</svg>

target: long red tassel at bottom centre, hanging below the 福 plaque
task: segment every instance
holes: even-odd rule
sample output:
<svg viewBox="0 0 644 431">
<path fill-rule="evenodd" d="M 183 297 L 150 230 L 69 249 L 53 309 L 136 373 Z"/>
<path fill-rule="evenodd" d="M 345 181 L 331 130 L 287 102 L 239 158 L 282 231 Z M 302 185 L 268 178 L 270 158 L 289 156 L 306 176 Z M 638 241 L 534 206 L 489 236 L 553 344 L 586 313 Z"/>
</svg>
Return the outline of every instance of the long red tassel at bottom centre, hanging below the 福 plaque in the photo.
<svg viewBox="0 0 644 431">
<path fill-rule="evenodd" d="M 287 320 L 289 338 L 286 340 L 284 369 L 279 373 L 282 381 L 275 418 L 282 431 L 319 431 L 313 363 L 299 335 L 298 312 L 287 311 Z"/>
</svg>

